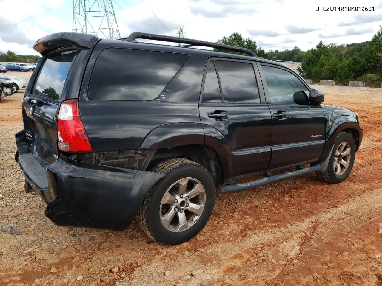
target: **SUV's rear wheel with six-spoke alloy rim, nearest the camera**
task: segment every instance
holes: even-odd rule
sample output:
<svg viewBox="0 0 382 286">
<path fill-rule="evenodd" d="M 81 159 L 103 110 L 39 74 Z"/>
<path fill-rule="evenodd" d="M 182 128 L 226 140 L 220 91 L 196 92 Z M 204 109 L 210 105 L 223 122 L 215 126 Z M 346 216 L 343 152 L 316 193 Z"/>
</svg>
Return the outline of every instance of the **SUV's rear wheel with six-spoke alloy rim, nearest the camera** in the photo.
<svg viewBox="0 0 382 286">
<path fill-rule="evenodd" d="M 188 241 L 203 229 L 214 208 L 215 183 L 211 174 L 202 165 L 183 158 L 167 159 L 157 164 L 151 172 L 164 174 L 165 177 L 152 186 L 139 207 L 136 214 L 139 227 L 160 244 L 176 245 Z M 183 186 L 185 196 L 180 196 L 180 186 Z M 188 198 L 186 194 L 190 197 L 194 195 L 190 190 L 200 193 Z M 175 198 L 178 200 L 174 201 Z M 189 211 L 189 207 L 195 206 L 199 208 L 197 212 L 201 209 L 199 215 Z M 165 217 L 170 214 L 173 214 L 170 216 L 173 219 L 166 220 Z M 184 220 L 186 223 L 181 225 L 180 221 Z"/>
</svg>

